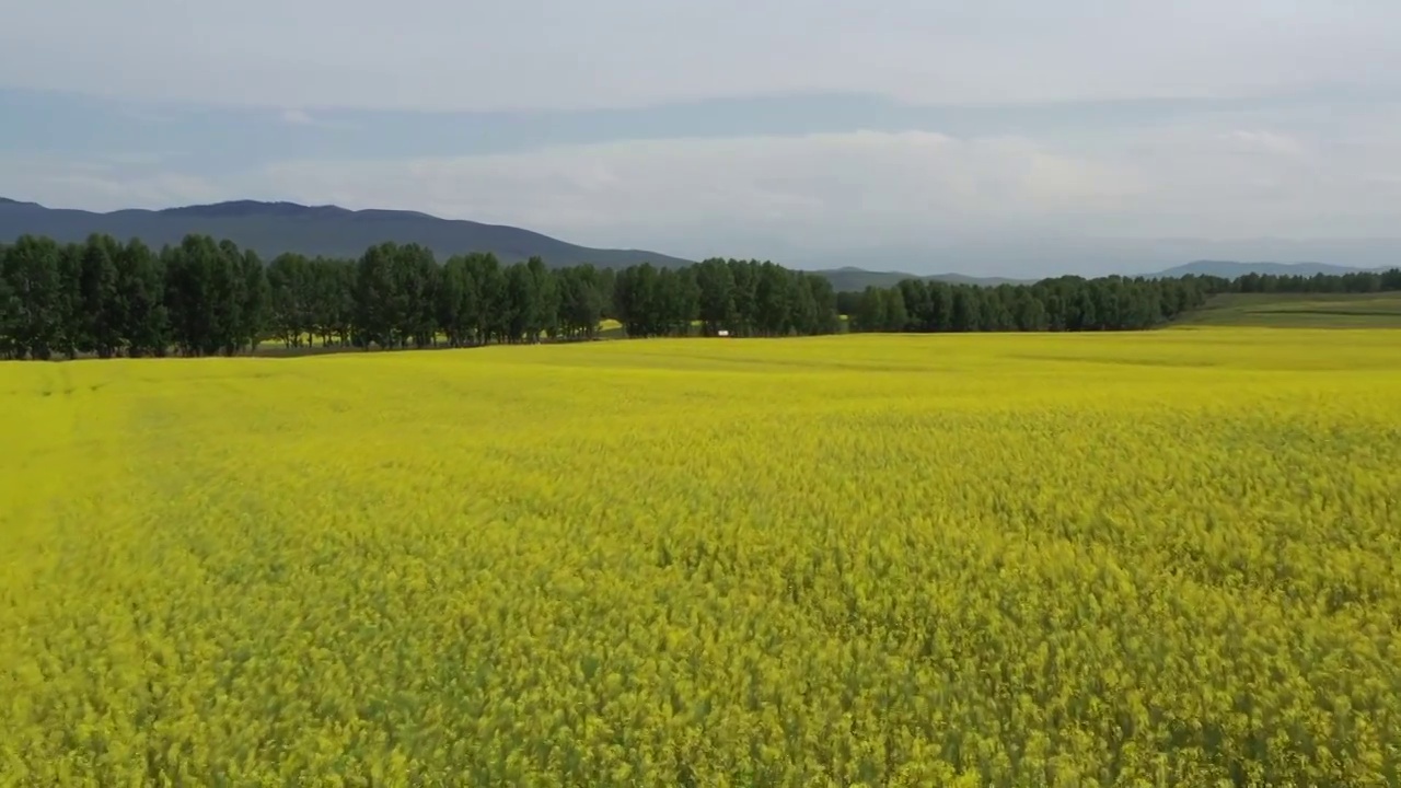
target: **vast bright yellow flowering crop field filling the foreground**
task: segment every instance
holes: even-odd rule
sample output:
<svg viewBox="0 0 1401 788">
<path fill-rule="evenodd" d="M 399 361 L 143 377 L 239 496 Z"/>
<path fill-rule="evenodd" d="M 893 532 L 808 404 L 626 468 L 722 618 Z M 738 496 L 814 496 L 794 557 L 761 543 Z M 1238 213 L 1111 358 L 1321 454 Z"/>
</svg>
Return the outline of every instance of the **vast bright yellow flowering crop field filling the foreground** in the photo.
<svg viewBox="0 0 1401 788">
<path fill-rule="evenodd" d="M 1401 332 L 0 366 L 0 785 L 1397 785 Z"/>
</svg>

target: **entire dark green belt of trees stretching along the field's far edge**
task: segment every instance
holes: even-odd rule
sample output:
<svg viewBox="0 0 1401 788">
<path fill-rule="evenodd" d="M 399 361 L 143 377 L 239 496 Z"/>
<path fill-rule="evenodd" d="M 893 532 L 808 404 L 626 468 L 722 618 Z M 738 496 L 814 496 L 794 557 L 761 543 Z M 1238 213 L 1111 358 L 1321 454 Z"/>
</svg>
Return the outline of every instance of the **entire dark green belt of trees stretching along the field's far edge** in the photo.
<svg viewBox="0 0 1401 788">
<path fill-rule="evenodd" d="M 269 339 L 361 349 L 572 341 L 597 338 L 604 320 L 633 338 L 832 334 L 841 315 L 850 331 L 1125 331 L 1168 322 L 1216 293 L 1380 290 L 1401 290 L 1401 271 L 996 287 L 909 279 L 836 293 L 820 275 L 740 259 L 552 269 L 490 254 L 439 262 L 426 247 L 385 243 L 359 259 L 263 261 L 209 236 L 158 251 L 109 236 L 24 236 L 0 247 L 0 358 L 235 355 Z"/>
</svg>

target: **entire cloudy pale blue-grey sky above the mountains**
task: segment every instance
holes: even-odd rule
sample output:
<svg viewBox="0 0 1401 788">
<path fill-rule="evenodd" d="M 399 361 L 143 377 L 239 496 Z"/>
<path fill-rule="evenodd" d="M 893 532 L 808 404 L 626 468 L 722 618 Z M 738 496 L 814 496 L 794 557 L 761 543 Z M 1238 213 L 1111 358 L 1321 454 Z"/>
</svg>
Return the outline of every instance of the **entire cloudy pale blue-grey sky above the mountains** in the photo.
<svg viewBox="0 0 1401 788">
<path fill-rule="evenodd" d="M 45 0 L 0 25 L 0 195 L 916 273 L 1383 265 L 1397 41 L 1394 0 Z"/>
</svg>

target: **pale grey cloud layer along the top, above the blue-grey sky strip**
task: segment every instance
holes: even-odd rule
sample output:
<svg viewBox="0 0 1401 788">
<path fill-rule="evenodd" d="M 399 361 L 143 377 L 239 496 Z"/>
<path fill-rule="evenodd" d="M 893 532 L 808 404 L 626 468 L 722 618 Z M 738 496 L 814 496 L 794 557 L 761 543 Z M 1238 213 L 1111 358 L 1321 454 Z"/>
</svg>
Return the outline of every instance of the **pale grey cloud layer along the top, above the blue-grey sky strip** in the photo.
<svg viewBox="0 0 1401 788">
<path fill-rule="evenodd" d="M 1233 95 L 1395 87 L 1398 38 L 1383 0 L 45 0 L 7 8 L 0 84 L 433 109 Z"/>
</svg>

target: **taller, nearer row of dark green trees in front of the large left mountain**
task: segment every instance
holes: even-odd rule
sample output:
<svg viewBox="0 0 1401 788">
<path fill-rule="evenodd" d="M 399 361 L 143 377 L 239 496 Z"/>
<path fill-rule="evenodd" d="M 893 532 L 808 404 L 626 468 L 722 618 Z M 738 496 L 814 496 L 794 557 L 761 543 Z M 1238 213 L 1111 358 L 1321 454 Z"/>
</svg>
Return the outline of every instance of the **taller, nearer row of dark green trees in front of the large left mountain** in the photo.
<svg viewBox="0 0 1401 788">
<path fill-rule="evenodd" d="M 511 265 L 492 254 L 439 262 L 419 244 L 357 259 L 282 254 L 188 236 L 156 251 L 91 236 L 24 236 L 0 247 L 0 358 L 210 356 L 289 348 L 427 348 L 628 337 L 831 334 L 836 293 L 815 273 L 708 259 L 621 271 Z"/>
</svg>

